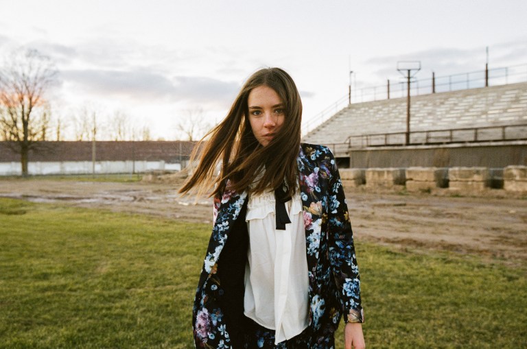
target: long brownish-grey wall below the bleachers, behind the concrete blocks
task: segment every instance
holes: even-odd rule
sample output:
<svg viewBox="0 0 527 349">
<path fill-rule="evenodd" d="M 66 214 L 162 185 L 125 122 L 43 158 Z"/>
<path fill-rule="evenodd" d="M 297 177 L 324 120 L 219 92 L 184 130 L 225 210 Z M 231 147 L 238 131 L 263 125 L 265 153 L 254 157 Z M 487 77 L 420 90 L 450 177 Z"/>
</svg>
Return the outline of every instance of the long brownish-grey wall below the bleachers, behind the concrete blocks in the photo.
<svg viewBox="0 0 527 349">
<path fill-rule="evenodd" d="M 527 165 L 527 143 L 517 145 L 463 145 L 355 149 L 351 168 L 489 167 Z"/>
</svg>

